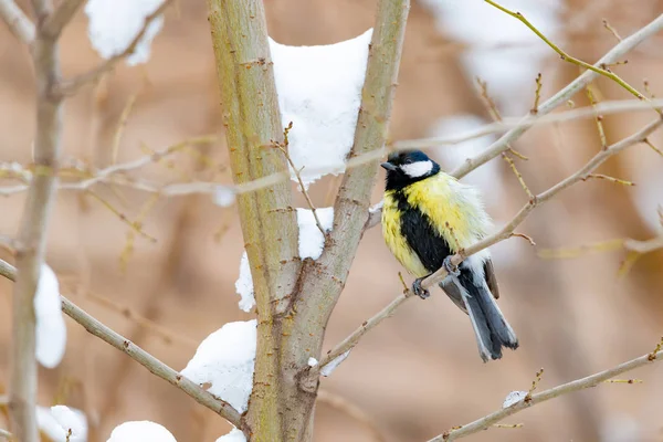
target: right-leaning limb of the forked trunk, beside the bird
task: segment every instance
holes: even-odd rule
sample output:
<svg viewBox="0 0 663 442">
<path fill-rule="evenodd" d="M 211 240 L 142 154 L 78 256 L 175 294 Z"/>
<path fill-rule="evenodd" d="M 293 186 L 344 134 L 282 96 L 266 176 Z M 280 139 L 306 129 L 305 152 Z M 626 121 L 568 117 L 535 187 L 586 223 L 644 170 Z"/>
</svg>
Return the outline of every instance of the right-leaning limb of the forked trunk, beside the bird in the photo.
<svg viewBox="0 0 663 442">
<path fill-rule="evenodd" d="M 319 355 L 324 336 L 319 333 L 319 336 L 314 336 L 313 332 L 325 329 L 364 234 L 377 166 L 391 117 L 409 10 L 409 0 L 381 0 L 378 3 L 349 161 L 362 155 L 379 156 L 376 155 L 360 167 L 347 169 L 343 177 L 334 204 L 334 227 L 323 255 L 315 262 L 307 262 L 305 267 L 302 281 L 302 293 L 305 295 L 296 299 L 295 311 L 296 320 L 306 333 L 303 333 L 302 343 L 295 343 L 298 347 L 292 351 L 304 348 L 312 349 L 314 356 Z M 307 367 L 309 355 L 301 352 L 302 367 L 308 369 L 306 382 L 317 382 L 319 365 Z"/>
</svg>

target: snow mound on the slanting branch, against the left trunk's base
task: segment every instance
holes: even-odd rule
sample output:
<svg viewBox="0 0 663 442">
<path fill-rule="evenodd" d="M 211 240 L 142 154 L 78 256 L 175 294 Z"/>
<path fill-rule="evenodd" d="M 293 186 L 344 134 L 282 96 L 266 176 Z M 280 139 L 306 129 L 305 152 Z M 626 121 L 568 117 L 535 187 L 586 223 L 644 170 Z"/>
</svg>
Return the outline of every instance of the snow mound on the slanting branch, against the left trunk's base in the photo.
<svg viewBox="0 0 663 442">
<path fill-rule="evenodd" d="M 253 388 L 256 345 L 255 319 L 228 323 L 209 335 L 181 371 L 182 376 L 230 403 L 240 413 L 246 411 Z"/>
</svg>

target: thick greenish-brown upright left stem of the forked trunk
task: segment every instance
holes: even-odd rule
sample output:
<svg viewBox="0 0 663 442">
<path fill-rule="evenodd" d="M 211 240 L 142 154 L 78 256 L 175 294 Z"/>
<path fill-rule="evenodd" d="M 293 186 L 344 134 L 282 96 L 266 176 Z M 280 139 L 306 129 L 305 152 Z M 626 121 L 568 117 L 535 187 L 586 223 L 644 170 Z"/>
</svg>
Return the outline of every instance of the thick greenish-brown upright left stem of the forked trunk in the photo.
<svg viewBox="0 0 663 442">
<path fill-rule="evenodd" d="M 208 0 L 233 181 L 290 175 L 273 148 L 283 143 L 274 67 L 262 0 Z M 308 398 L 292 387 L 292 355 L 283 350 L 292 318 L 284 318 L 301 269 L 298 228 L 290 183 L 281 180 L 240 194 L 238 208 L 257 311 L 253 390 L 245 417 L 252 442 L 304 440 Z"/>
</svg>

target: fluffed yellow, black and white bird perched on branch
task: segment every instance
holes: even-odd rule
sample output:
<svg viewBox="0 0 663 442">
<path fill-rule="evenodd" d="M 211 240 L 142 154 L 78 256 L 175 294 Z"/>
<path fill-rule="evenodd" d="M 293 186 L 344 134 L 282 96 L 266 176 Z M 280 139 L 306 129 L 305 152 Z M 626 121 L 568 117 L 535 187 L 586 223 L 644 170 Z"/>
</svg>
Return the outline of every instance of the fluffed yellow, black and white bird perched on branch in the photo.
<svg viewBox="0 0 663 442">
<path fill-rule="evenodd" d="M 451 256 L 492 229 L 480 192 L 443 172 L 421 150 L 391 152 L 380 165 L 387 170 L 382 206 L 382 235 L 401 265 L 417 277 L 412 291 L 425 299 L 421 282 L 445 267 L 439 284 L 470 316 L 478 354 L 484 362 L 502 358 L 503 347 L 518 348 L 518 338 L 499 311 L 499 288 L 487 249 L 454 266 Z"/>
</svg>

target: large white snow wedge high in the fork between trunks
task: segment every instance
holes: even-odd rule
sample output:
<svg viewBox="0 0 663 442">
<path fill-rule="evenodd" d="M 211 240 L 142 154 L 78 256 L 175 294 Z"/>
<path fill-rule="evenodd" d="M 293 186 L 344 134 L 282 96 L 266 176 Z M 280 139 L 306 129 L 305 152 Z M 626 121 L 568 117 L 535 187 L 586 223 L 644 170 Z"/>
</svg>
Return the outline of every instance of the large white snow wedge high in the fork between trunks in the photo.
<svg viewBox="0 0 663 442">
<path fill-rule="evenodd" d="M 293 123 L 288 152 L 306 187 L 345 169 L 371 35 L 369 29 L 355 39 L 319 46 L 287 46 L 270 39 L 282 125 Z"/>
</svg>

